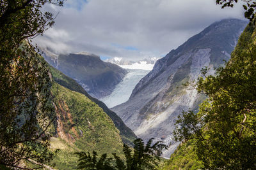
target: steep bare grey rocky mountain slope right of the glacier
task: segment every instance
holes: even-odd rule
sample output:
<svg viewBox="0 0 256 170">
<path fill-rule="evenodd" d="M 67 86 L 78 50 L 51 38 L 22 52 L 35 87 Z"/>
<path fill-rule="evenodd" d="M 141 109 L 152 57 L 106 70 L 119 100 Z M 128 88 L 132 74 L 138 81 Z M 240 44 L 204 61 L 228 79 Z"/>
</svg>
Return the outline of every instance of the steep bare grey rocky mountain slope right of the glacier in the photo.
<svg viewBox="0 0 256 170">
<path fill-rule="evenodd" d="M 129 101 L 112 110 L 139 138 L 168 141 L 182 110 L 196 110 L 205 98 L 182 83 L 195 80 L 206 66 L 213 74 L 214 67 L 224 64 L 246 24 L 237 19 L 221 20 L 189 38 L 157 60 L 154 69 L 136 85 Z M 172 152 L 170 149 L 165 155 Z"/>
</svg>

